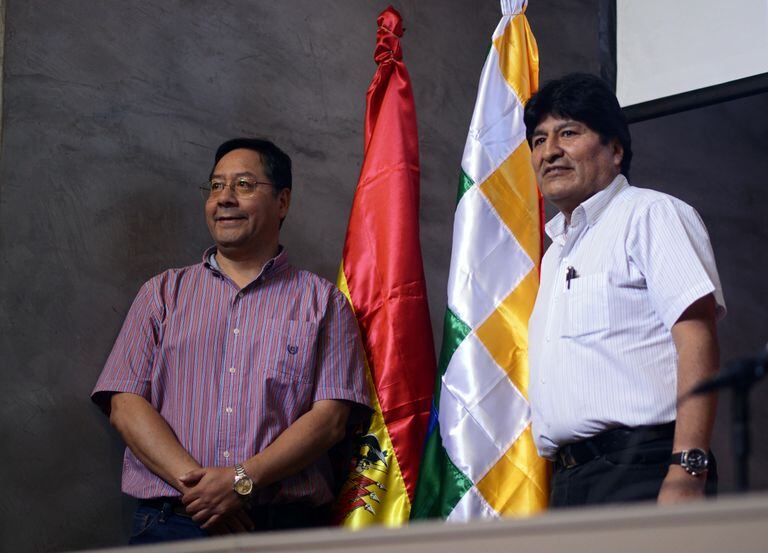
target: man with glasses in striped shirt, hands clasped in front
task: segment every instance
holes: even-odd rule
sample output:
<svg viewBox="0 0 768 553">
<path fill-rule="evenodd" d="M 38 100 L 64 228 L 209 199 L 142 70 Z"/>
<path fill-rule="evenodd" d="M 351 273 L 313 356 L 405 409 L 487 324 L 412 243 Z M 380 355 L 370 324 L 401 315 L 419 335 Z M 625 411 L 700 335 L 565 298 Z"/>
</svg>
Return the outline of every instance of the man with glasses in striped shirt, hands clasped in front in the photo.
<svg viewBox="0 0 768 553">
<path fill-rule="evenodd" d="M 229 140 L 202 193 L 215 245 L 141 288 L 92 394 L 128 445 L 131 543 L 324 524 L 328 450 L 368 405 L 344 296 L 279 244 L 290 158 Z"/>
</svg>

